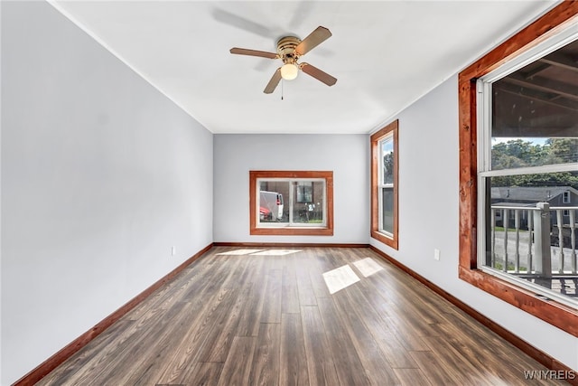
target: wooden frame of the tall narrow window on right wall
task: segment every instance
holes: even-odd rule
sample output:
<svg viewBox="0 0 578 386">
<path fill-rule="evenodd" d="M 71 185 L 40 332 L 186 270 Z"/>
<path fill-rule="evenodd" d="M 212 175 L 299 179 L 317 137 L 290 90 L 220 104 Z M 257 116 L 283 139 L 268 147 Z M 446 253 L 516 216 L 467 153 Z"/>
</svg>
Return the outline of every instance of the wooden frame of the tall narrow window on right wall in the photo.
<svg viewBox="0 0 578 386">
<path fill-rule="evenodd" d="M 384 137 L 393 133 L 394 137 L 394 226 L 392 236 L 379 231 L 379 141 Z M 398 212 L 398 196 L 399 196 L 399 120 L 388 124 L 381 128 L 378 132 L 370 137 L 371 144 L 371 237 L 375 240 L 381 241 L 387 246 L 398 249 L 399 248 L 399 212 Z"/>
</svg>

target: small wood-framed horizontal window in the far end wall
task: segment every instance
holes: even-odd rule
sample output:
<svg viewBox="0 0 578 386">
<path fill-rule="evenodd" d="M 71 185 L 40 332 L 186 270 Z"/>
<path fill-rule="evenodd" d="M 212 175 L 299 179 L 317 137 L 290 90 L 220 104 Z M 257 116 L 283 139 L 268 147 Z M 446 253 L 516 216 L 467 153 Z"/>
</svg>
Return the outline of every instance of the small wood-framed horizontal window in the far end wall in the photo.
<svg viewBox="0 0 578 386">
<path fill-rule="evenodd" d="M 250 171 L 250 232 L 333 234 L 333 173 Z"/>
</svg>

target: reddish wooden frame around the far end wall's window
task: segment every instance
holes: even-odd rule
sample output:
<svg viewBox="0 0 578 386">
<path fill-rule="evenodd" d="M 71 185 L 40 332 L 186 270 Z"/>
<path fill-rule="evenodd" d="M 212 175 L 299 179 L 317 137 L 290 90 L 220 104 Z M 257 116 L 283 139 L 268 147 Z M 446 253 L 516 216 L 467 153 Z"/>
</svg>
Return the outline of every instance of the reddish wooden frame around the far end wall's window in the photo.
<svg viewBox="0 0 578 386">
<path fill-rule="evenodd" d="M 258 227 L 256 212 L 256 181 L 258 178 L 318 178 L 325 180 L 326 222 L 322 227 Z M 332 236 L 333 235 L 333 172 L 331 171 L 249 171 L 249 233 L 251 235 Z"/>
</svg>

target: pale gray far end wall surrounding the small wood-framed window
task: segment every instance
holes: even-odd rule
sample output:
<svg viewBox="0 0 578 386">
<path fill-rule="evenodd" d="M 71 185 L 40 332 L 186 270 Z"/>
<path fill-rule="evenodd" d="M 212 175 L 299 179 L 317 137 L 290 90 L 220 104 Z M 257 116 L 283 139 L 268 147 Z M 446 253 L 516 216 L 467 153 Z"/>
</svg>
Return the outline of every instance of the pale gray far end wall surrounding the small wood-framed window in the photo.
<svg viewBox="0 0 578 386">
<path fill-rule="evenodd" d="M 214 240 L 367 243 L 366 135 L 215 135 Z M 333 236 L 249 235 L 249 170 L 333 171 Z"/>
</svg>

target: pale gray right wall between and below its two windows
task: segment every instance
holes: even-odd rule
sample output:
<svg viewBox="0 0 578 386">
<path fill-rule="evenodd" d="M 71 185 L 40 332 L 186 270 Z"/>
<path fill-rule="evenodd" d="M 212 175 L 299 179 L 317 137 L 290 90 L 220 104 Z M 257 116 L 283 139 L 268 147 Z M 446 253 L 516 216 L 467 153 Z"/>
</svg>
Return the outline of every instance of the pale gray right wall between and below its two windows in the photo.
<svg viewBox="0 0 578 386">
<path fill-rule="evenodd" d="M 458 278 L 457 76 L 399 116 L 399 250 L 370 243 L 522 339 L 578 370 L 578 339 Z M 433 259 L 433 249 L 441 259 Z M 533 369 L 530 369 L 533 370 Z"/>
</svg>

